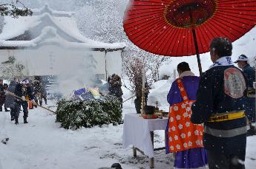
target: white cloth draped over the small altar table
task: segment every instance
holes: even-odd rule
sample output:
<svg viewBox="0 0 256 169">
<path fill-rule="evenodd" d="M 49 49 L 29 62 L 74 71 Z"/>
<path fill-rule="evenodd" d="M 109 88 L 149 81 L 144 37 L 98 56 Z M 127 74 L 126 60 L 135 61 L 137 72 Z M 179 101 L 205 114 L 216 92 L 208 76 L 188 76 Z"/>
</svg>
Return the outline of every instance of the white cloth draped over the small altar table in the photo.
<svg viewBox="0 0 256 169">
<path fill-rule="evenodd" d="M 150 131 L 165 130 L 168 117 L 163 119 L 143 119 L 140 114 L 125 114 L 122 145 L 139 148 L 149 158 L 154 157 L 154 148 L 151 142 Z"/>
</svg>

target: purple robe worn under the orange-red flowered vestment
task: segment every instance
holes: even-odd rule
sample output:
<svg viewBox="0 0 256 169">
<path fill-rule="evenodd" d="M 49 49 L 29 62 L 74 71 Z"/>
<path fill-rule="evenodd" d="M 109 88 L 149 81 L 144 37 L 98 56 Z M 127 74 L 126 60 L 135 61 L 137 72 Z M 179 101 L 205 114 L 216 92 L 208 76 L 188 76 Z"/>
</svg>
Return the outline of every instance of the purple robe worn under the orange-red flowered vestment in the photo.
<svg viewBox="0 0 256 169">
<path fill-rule="evenodd" d="M 196 100 L 199 80 L 200 80 L 200 77 L 197 77 L 197 76 L 182 77 L 182 82 L 188 94 L 189 100 Z M 167 101 L 170 104 L 170 106 L 183 101 L 183 98 L 181 97 L 181 94 L 180 94 L 180 89 L 178 88 L 176 81 L 174 81 L 171 84 L 171 89 L 167 95 Z M 167 124 L 166 131 L 168 131 L 168 124 Z M 169 153 L 168 139 L 166 142 L 166 153 L 167 154 Z M 177 151 L 175 154 L 175 162 L 174 162 L 175 168 L 200 168 L 206 165 L 207 165 L 207 156 L 204 148 L 191 148 L 186 151 Z"/>
</svg>

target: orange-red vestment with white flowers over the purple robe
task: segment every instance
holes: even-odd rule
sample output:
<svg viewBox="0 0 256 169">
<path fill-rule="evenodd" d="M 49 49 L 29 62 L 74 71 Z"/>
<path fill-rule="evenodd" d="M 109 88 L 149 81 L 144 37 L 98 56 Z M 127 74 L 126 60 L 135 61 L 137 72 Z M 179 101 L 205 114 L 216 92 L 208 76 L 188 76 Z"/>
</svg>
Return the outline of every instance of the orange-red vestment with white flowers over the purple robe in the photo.
<svg viewBox="0 0 256 169">
<path fill-rule="evenodd" d="M 190 123 L 191 105 L 186 89 L 177 80 L 183 102 L 174 104 L 169 111 L 168 144 L 171 152 L 203 147 L 203 126 Z"/>
</svg>

